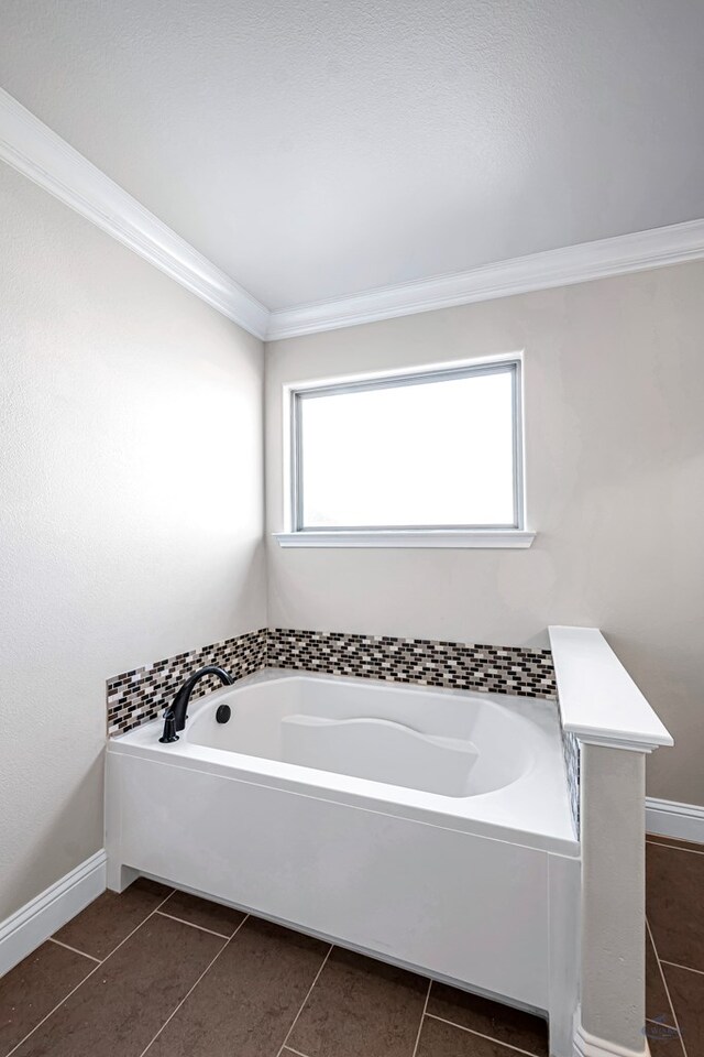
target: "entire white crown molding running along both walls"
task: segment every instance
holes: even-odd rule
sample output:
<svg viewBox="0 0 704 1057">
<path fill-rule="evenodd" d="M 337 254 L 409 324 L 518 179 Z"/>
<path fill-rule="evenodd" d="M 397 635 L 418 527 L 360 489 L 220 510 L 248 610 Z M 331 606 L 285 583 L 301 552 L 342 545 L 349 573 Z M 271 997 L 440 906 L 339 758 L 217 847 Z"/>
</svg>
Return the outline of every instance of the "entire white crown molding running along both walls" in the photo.
<svg viewBox="0 0 704 1057">
<path fill-rule="evenodd" d="M 704 220 L 273 312 L 0 88 L 0 161 L 266 341 L 704 259 Z"/>
</svg>

